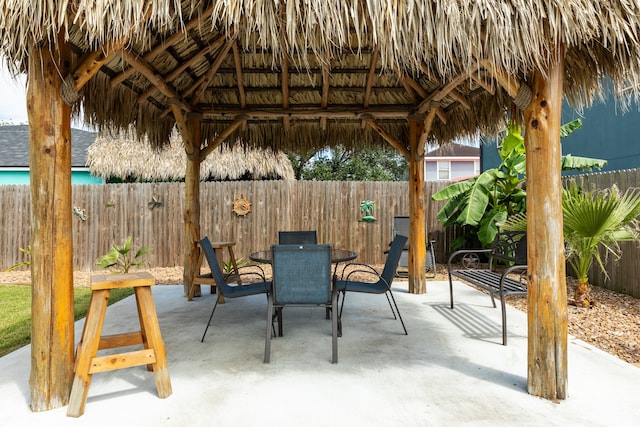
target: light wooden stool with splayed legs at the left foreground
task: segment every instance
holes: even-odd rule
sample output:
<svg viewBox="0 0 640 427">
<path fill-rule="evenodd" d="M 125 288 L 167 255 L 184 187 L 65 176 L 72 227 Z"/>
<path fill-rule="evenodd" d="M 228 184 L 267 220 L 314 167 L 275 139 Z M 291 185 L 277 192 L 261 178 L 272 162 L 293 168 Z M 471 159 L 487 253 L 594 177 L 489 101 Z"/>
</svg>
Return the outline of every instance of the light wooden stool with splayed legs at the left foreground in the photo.
<svg viewBox="0 0 640 427">
<path fill-rule="evenodd" d="M 76 349 L 75 377 L 67 416 L 79 417 L 84 413 L 91 376 L 97 372 L 147 365 L 147 369 L 153 371 L 155 376 L 158 396 L 165 398 L 171 395 L 164 342 L 151 294 L 151 286 L 155 283 L 149 273 L 101 274 L 91 277 L 91 301 Z M 101 336 L 111 289 L 128 287 L 134 288 L 140 331 Z M 142 344 L 144 349 L 97 356 L 98 350 L 136 344 Z"/>
</svg>

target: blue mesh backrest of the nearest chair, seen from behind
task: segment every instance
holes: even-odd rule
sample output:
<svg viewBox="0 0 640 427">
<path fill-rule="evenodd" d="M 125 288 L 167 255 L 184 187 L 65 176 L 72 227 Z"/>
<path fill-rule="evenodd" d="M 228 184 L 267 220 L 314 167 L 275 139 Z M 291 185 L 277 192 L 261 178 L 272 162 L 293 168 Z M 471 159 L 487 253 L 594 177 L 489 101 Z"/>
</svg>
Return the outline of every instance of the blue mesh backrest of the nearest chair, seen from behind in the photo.
<svg viewBox="0 0 640 427">
<path fill-rule="evenodd" d="M 273 245 L 276 305 L 331 303 L 330 245 Z"/>
</svg>

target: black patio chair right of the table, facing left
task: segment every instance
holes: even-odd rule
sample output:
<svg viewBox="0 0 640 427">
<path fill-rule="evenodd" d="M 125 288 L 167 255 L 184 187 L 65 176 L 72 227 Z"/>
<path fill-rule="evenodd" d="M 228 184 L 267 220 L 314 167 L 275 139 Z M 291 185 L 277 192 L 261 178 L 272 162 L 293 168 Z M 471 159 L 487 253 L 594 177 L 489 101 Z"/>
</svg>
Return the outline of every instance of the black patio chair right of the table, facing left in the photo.
<svg viewBox="0 0 640 427">
<path fill-rule="evenodd" d="M 402 320 L 402 316 L 400 315 L 400 310 L 398 309 L 398 305 L 396 304 L 396 300 L 393 297 L 393 292 L 391 292 L 391 283 L 393 282 L 393 277 L 396 274 L 396 269 L 398 268 L 398 261 L 400 260 L 400 255 L 402 254 L 402 250 L 404 248 L 405 243 L 407 242 L 407 236 L 403 236 L 401 234 L 396 234 L 391 242 L 391 248 L 389 249 L 389 253 L 387 255 L 387 260 L 384 264 L 384 268 L 382 269 L 382 274 L 378 273 L 373 267 L 367 264 L 361 263 L 350 263 L 347 264 L 343 271 L 344 272 L 350 266 L 355 267 L 355 269 L 349 271 L 347 276 L 341 280 L 338 280 L 337 287 L 338 292 L 342 293 L 342 304 L 340 305 L 340 313 L 338 318 L 342 318 L 342 309 L 344 307 L 344 300 L 346 299 L 347 292 L 363 292 L 368 294 L 385 294 L 387 297 L 387 302 L 389 303 L 389 307 L 391 307 L 391 312 L 393 313 L 394 319 L 400 319 L 400 323 L 402 323 L 402 329 L 404 329 L 404 334 L 407 334 L 407 328 L 404 326 L 404 321 Z M 363 282 L 352 280 L 351 276 L 355 273 L 367 273 L 375 277 L 375 281 L 371 282 Z M 389 299 L 391 297 L 391 299 Z M 393 301 L 393 305 L 391 302 Z M 395 310 L 394 310 L 395 306 Z M 396 313 L 398 313 L 396 317 Z"/>
</svg>

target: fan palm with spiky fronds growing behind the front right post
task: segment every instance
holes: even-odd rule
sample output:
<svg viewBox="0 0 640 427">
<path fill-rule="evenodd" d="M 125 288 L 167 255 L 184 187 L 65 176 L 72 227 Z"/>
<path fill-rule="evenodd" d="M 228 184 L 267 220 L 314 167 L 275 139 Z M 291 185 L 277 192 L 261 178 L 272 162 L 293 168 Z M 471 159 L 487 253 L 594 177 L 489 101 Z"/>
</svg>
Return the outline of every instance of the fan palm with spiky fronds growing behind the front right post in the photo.
<svg viewBox="0 0 640 427">
<path fill-rule="evenodd" d="M 572 180 L 562 191 L 562 215 L 567 262 L 578 280 L 574 302 L 578 307 L 589 307 L 592 265 L 596 263 L 608 277 L 604 262 L 608 256 L 620 258 L 618 243 L 640 238 L 640 188 L 629 188 L 624 194 L 616 185 L 584 191 Z M 502 228 L 526 230 L 526 223 L 526 213 L 521 213 Z"/>
</svg>

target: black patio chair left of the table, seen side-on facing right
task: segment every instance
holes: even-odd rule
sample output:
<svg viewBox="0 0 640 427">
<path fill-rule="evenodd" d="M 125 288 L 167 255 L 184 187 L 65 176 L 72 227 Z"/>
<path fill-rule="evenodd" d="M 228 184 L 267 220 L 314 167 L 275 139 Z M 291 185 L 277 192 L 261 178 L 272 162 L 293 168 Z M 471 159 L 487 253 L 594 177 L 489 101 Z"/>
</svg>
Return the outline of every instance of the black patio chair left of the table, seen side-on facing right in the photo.
<svg viewBox="0 0 640 427">
<path fill-rule="evenodd" d="M 200 245 L 202 250 L 204 251 L 204 256 L 209 263 L 209 268 L 211 269 L 211 275 L 216 281 L 216 289 L 218 292 L 222 294 L 225 298 L 239 298 L 246 297 L 249 295 L 258 295 L 258 294 L 269 294 L 271 292 L 271 282 L 267 281 L 264 275 L 264 271 L 257 265 L 245 266 L 238 268 L 238 274 L 243 275 L 254 275 L 259 277 L 261 280 L 255 283 L 243 283 L 241 285 L 231 286 L 224 278 L 222 274 L 222 270 L 220 269 L 220 265 L 218 264 L 218 258 L 216 258 L 215 251 L 211 246 L 211 242 L 208 237 L 200 240 Z M 246 269 L 249 267 L 257 268 L 261 272 L 258 271 L 246 271 L 243 272 L 242 269 Z M 211 319 L 213 319 L 213 313 L 216 311 L 216 307 L 218 306 L 218 296 L 216 296 L 216 302 L 213 304 L 213 310 L 211 310 L 211 316 L 209 316 L 209 321 L 207 322 L 207 327 L 204 329 L 204 333 L 202 334 L 202 339 L 200 342 L 204 342 L 204 337 L 207 335 L 207 330 L 209 329 L 209 325 L 211 325 Z"/>
</svg>

